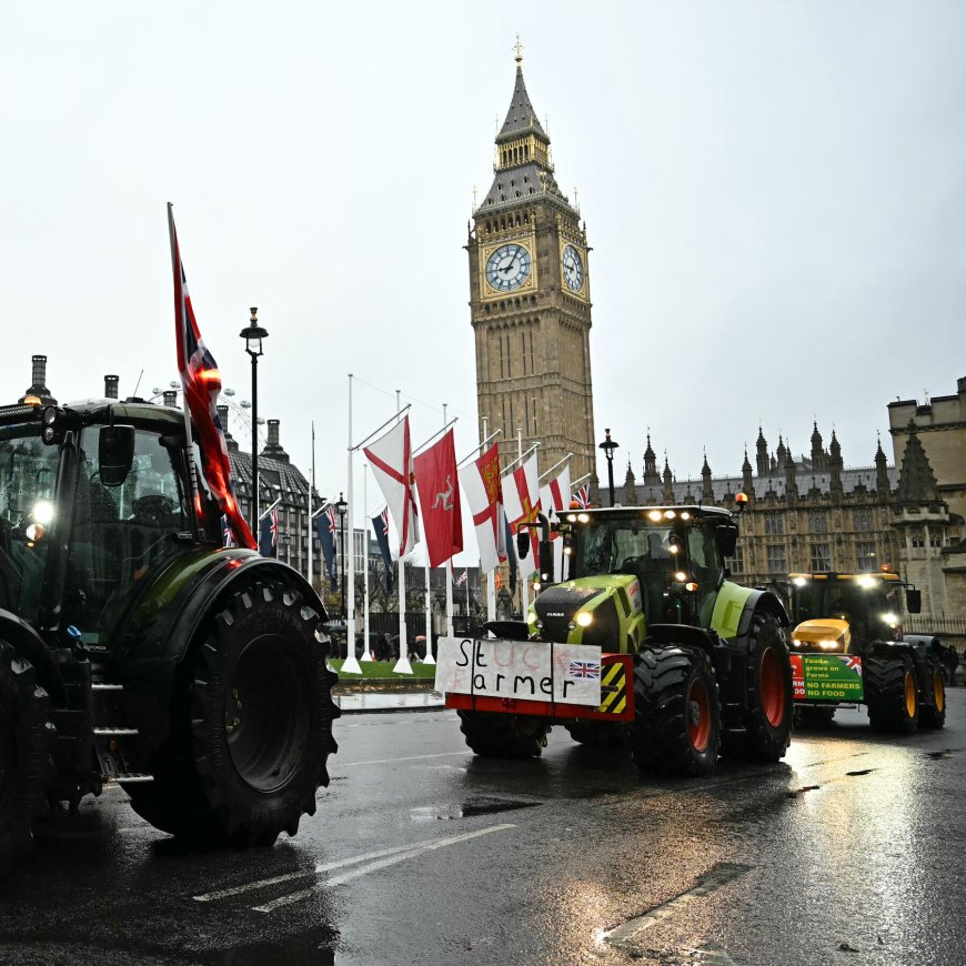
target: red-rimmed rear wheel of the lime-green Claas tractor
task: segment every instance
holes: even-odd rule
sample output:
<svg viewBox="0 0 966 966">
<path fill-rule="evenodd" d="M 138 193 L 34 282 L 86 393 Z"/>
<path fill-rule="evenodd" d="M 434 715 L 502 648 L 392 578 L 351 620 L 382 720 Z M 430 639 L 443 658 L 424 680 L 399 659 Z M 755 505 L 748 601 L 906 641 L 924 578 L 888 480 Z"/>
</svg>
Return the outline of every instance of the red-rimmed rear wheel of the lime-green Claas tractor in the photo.
<svg viewBox="0 0 966 966">
<path fill-rule="evenodd" d="M 722 754 L 757 762 L 783 758 L 792 741 L 792 665 L 785 634 L 766 614 L 752 617 L 744 705 L 744 731 L 724 733 Z"/>
</svg>

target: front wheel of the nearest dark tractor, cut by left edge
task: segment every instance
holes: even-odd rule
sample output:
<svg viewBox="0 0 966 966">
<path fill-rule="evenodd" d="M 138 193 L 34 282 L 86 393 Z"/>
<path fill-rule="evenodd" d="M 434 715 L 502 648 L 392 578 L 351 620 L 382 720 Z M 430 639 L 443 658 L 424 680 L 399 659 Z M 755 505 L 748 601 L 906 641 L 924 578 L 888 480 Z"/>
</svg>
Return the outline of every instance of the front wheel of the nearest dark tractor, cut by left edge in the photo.
<svg viewBox="0 0 966 966">
<path fill-rule="evenodd" d="M 30 851 L 33 821 L 48 811 L 53 725 L 47 706 L 33 666 L 0 641 L 0 878 Z"/>
</svg>

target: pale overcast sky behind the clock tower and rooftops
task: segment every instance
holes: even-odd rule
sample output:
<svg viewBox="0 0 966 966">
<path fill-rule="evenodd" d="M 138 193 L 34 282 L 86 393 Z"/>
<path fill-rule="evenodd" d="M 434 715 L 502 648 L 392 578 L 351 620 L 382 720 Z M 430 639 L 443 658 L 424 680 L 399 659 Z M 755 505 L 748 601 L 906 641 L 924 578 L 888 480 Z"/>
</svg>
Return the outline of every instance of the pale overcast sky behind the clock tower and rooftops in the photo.
<svg viewBox="0 0 966 966">
<path fill-rule="evenodd" d="M 11 9 L 12 8 L 12 9 Z M 165 202 L 202 334 L 321 492 L 413 402 L 475 441 L 472 190 L 516 32 L 593 252 L 597 437 L 640 475 L 738 472 L 758 422 L 834 422 L 869 463 L 886 403 L 966 375 L 966 3 L 11 4 L 0 32 L 7 396 L 177 378 Z M 884 439 L 887 443 L 887 439 Z M 887 447 L 887 452 L 890 450 Z M 356 480 L 361 480 L 361 471 Z M 373 486 L 370 485 L 370 500 Z M 360 491 L 361 496 L 361 491 Z"/>
</svg>

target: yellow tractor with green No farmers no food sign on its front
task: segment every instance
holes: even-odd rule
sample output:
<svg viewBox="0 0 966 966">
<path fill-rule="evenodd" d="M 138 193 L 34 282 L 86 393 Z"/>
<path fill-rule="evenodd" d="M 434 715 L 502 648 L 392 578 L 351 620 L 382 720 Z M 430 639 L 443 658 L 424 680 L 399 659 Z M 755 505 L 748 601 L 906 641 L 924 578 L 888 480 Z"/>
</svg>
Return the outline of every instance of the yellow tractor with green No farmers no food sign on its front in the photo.
<svg viewBox="0 0 966 966">
<path fill-rule="evenodd" d="M 899 594 L 916 614 L 922 594 L 890 571 L 792 574 L 795 718 L 825 725 L 865 705 L 874 731 L 912 734 L 946 723 L 942 647 L 904 634 Z"/>
</svg>

